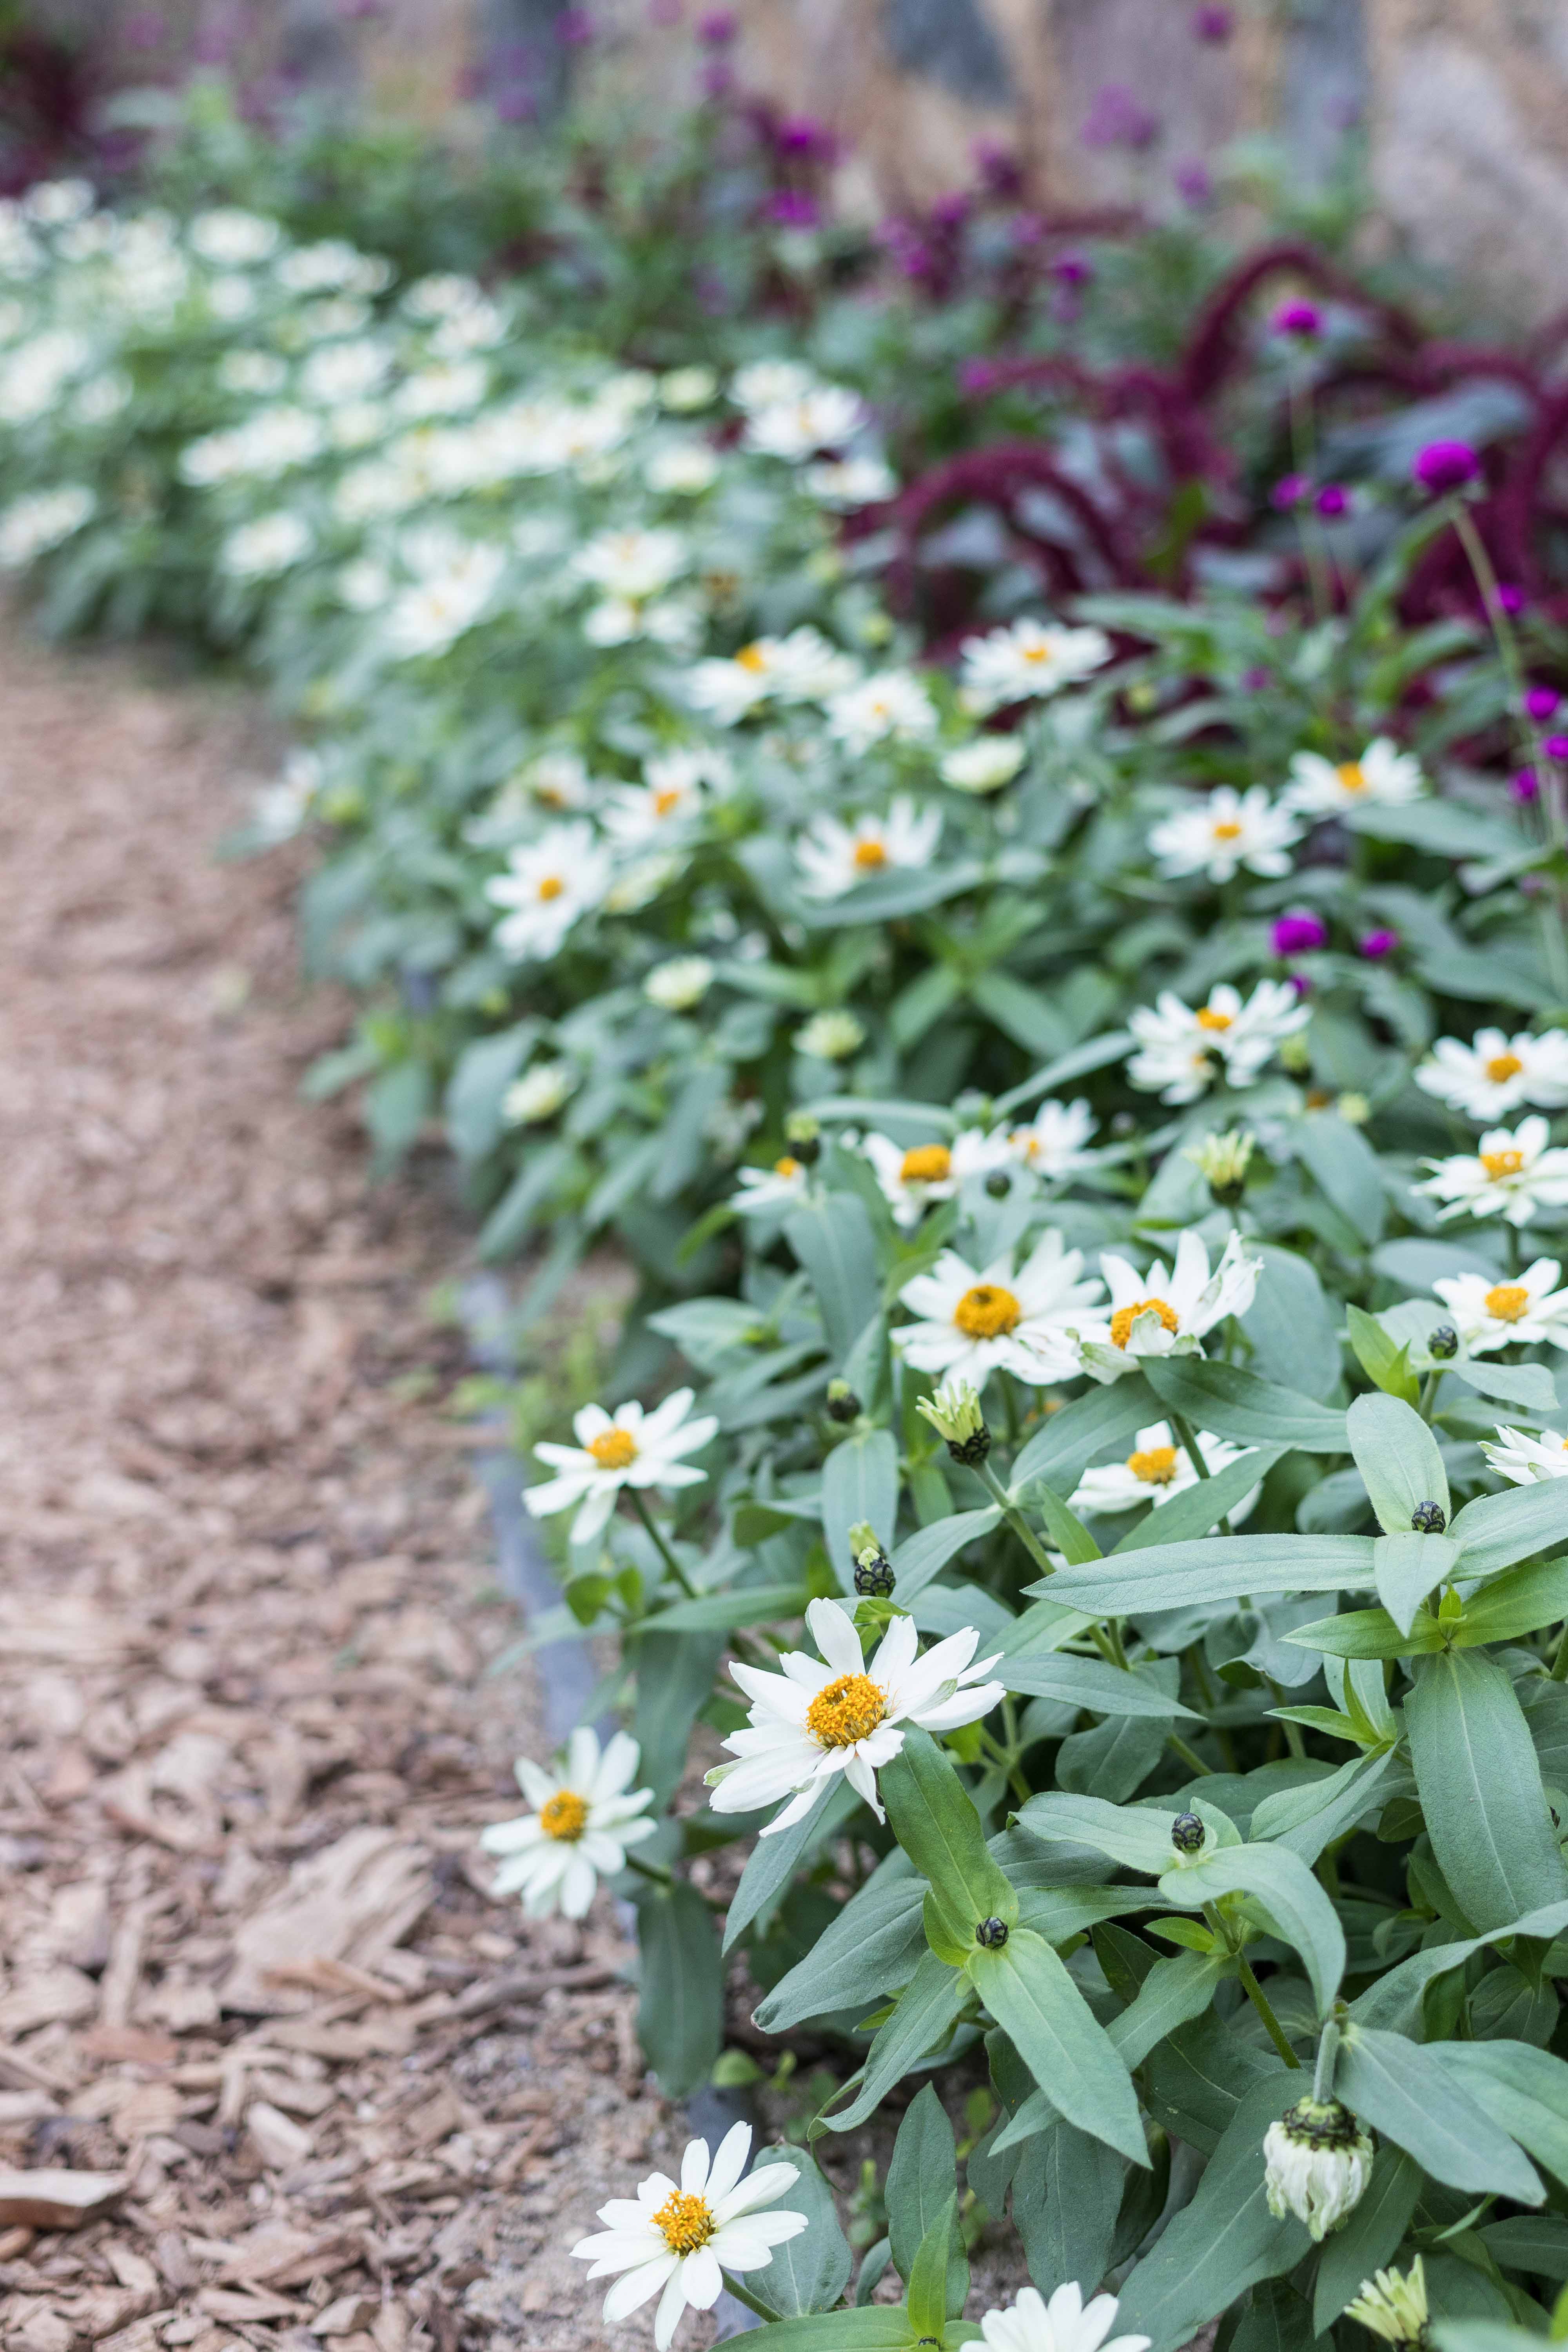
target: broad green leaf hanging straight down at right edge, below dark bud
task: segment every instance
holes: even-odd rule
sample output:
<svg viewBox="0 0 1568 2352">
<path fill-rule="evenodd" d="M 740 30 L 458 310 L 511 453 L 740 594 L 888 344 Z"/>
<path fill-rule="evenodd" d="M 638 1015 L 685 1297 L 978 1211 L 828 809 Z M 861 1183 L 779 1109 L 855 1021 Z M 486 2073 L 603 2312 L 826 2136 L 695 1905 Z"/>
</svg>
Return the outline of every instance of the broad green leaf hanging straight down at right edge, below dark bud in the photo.
<svg viewBox="0 0 1568 2352">
<path fill-rule="evenodd" d="M 1530 1726 L 1502 1665 L 1481 1651 L 1425 1658 L 1406 1731 L 1432 1851 L 1465 1917 L 1495 1929 L 1561 1903 L 1568 1872 Z"/>
</svg>

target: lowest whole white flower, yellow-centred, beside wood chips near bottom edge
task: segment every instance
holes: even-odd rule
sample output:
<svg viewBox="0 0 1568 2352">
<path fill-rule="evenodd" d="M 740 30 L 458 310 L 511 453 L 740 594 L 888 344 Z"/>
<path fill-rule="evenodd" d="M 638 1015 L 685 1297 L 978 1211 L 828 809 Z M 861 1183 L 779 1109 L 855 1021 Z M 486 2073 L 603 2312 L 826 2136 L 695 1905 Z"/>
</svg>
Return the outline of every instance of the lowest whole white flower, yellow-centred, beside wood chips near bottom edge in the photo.
<svg viewBox="0 0 1568 2352">
<path fill-rule="evenodd" d="M 710 2312 L 724 2291 L 724 2272 L 741 2277 L 766 2270 L 773 2249 L 809 2227 L 804 2213 L 764 2213 L 797 2185 L 792 2164 L 759 2164 L 745 2173 L 752 2126 L 736 2124 L 708 2157 L 708 2140 L 691 2140 L 682 2157 L 679 2187 L 668 2173 L 649 2173 L 637 2197 L 611 2197 L 599 2206 L 604 2230 L 571 2249 L 576 2263 L 592 2263 L 590 2279 L 616 2279 L 604 2296 L 604 2319 L 630 2319 L 658 2296 L 654 2347 L 670 2352 L 686 2307 Z M 745 2176 L 745 2178 L 743 2178 Z"/>
</svg>

